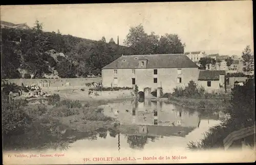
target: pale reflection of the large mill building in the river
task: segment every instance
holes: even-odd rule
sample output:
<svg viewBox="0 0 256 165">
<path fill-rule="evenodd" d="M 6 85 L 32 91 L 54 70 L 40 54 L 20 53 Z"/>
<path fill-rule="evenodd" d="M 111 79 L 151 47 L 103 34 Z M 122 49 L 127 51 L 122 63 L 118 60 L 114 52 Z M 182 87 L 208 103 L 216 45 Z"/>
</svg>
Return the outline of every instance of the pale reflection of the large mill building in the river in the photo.
<svg viewBox="0 0 256 165">
<path fill-rule="evenodd" d="M 183 107 L 150 99 L 124 100 L 102 105 L 104 115 L 117 118 L 121 125 L 159 125 L 197 127 L 199 114 Z M 118 115 L 115 116 L 115 111 Z"/>
</svg>

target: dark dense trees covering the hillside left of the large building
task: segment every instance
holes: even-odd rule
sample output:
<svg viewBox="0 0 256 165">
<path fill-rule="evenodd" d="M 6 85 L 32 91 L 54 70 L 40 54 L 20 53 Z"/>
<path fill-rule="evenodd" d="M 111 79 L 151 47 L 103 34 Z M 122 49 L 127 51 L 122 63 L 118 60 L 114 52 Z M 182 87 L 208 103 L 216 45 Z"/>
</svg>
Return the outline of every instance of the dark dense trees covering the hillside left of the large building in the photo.
<svg viewBox="0 0 256 165">
<path fill-rule="evenodd" d="M 131 55 L 130 48 L 116 45 L 111 39 L 106 43 L 82 39 L 58 32 L 43 32 L 38 21 L 31 30 L 1 29 L 2 78 L 19 78 L 19 69 L 38 78 L 45 73 L 58 71 L 60 77 L 86 77 L 98 75 L 101 68 L 113 60 Z M 66 59 L 54 59 L 46 51 L 54 49 L 66 55 Z M 27 74 L 27 75 L 28 75 Z"/>
</svg>

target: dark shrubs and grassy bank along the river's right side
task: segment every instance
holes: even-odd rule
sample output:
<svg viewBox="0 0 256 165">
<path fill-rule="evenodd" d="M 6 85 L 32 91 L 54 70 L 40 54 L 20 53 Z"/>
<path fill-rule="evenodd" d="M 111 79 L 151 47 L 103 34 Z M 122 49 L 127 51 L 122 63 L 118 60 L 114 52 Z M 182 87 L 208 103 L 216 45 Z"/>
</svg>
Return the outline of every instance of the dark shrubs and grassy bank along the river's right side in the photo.
<svg viewBox="0 0 256 165">
<path fill-rule="evenodd" d="M 185 88 L 176 88 L 174 93 L 166 93 L 163 97 L 166 102 L 185 106 L 201 113 L 208 114 L 224 112 L 229 118 L 223 119 L 218 126 L 211 127 L 204 133 L 204 138 L 195 143 L 189 142 L 188 149 L 205 150 L 224 149 L 223 140 L 232 131 L 254 125 L 254 77 L 248 77 L 244 86 L 236 86 L 231 94 L 207 93 L 202 87 L 197 87 L 190 81 Z M 250 145 L 254 145 L 254 139 L 247 139 Z"/>
</svg>

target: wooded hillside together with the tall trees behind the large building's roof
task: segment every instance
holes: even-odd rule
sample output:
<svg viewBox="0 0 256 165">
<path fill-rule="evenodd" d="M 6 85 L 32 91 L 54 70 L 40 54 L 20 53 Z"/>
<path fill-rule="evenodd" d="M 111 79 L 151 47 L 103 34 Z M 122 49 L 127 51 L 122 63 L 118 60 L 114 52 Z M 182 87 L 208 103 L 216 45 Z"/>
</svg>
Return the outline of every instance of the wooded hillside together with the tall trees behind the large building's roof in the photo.
<svg viewBox="0 0 256 165">
<path fill-rule="evenodd" d="M 62 35 L 59 30 L 44 32 L 38 21 L 30 30 L 1 29 L 1 39 L 2 78 L 21 78 L 22 72 L 26 78 L 44 78 L 55 72 L 61 78 L 100 75 L 101 68 L 122 54 L 183 53 L 185 47 L 178 35 L 148 35 L 141 24 L 131 27 L 125 46 L 113 38 L 94 41 Z"/>
</svg>

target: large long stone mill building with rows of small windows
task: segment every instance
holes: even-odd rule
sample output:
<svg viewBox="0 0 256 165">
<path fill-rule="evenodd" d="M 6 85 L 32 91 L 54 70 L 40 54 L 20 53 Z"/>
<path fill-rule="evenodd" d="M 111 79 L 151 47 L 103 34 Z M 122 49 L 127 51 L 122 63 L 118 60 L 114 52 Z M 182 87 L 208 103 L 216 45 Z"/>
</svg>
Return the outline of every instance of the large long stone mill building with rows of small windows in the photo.
<svg viewBox="0 0 256 165">
<path fill-rule="evenodd" d="M 139 91 L 173 92 L 190 80 L 197 82 L 198 66 L 185 54 L 150 54 L 121 56 L 102 68 L 103 87 L 133 87 Z"/>
</svg>

